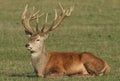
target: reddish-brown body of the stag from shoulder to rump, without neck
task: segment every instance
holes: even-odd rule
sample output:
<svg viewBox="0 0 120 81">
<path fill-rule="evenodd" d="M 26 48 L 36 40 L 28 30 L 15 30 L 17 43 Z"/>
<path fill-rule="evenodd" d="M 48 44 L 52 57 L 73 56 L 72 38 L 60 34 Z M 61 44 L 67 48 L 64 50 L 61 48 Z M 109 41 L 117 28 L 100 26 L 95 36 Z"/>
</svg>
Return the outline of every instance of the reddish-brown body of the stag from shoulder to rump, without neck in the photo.
<svg viewBox="0 0 120 81">
<path fill-rule="evenodd" d="M 45 77 L 70 75 L 99 75 L 109 69 L 106 62 L 91 53 L 48 53 L 49 60 L 45 66 Z M 105 70 L 103 70 L 105 68 Z M 103 70 L 103 72 L 101 72 Z"/>
</svg>

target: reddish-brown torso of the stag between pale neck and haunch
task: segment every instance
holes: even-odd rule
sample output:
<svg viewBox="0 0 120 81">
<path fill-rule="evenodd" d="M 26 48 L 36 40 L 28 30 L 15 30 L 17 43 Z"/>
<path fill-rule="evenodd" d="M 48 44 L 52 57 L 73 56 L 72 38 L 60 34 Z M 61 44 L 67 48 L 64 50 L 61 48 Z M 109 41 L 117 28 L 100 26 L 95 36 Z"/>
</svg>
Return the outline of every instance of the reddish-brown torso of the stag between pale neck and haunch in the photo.
<svg viewBox="0 0 120 81">
<path fill-rule="evenodd" d="M 84 67 L 78 53 L 49 52 L 45 73 L 53 77 L 71 76 L 74 74 L 87 75 L 88 72 Z"/>
</svg>

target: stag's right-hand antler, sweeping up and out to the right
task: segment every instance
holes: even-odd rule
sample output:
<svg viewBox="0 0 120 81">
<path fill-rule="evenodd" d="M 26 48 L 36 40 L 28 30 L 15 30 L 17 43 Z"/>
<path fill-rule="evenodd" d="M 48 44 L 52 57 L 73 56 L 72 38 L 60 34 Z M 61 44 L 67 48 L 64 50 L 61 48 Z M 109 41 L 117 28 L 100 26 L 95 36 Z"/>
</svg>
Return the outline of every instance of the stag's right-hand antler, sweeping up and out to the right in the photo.
<svg viewBox="0 0 120 81">
<path fill-rule="evenodd" d="M 58 17 L 57 16 L 57 10 L 55 9 L 55 18 L 54 18 L 54 21 L 53 21 L 52 25 L 48 29 L 45 29 L 45 25 L 47 23 L 47 17 L 48 17 L 48 14 L 47 14 L 46 15 L 46 20 L 45 20 L 45 23 L 44 23 L 44 26 L 43 26 L 41 32 L 48 33 L 50 31 L 56 29 L 61 24 L 61 22 L 64 20 L 65 17 L 68 17 L 68 16 L 71 15 L 71 12 L 74 9 L 73 7 L 70 7 L 69 9 L 64 10 L 64 8 L 62 7 L 62 5 L 60 3 L 59 3 L 59 6 L 60 6 L 61 11 L 62 11 L 61 15 Z"/>
</svg>

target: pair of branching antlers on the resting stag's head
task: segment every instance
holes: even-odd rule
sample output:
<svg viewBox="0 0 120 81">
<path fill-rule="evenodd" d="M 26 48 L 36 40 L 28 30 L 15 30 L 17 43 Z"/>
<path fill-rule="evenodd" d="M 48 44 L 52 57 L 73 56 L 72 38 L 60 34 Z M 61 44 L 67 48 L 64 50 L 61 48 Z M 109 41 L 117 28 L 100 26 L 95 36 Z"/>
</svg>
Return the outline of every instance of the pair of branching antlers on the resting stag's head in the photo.
<svg viewBox="0 0 120 81">
<path fill-rule="evenodd" d="M 46 24 L 47 24 L 47 18 L 48 18 L 48 13 L 47 13 L 46 18 L 45 18 L 45 22 L 43 24 L 43 28 L 41 29 L 41 31 L 39 31 L 39 29 L 38 29 L 39 17 L 41 17 L 44 13 L 42 13 L 41 15 L 38 15 L 39 11 L 34 13 L 35 8 L 33 7 L 32 11 L 30 13 L 30 17 L 27 18 L 26 15 L 27 15 L 27 10 L 28 10 L 28 5 L 26 5 L 25 9 L 23 11 L 23 14 L 22 14 L 22 24 L 25 28 L 25 32 L 27 34 L 30 34 L 30 35 L 35 33 L 34 30 L 32 29 L 32 27 L 30 26 L 30 21 L 34 20 L 34 19 L 36 19 L 36 31 L 37 31 L 37 33 L 39 33 L 39 32 L 48 33 L 50 31 L 56 29 L 61 24 L 61 22 L 64 20 L 64 18 L 70 16 L 71 12 L 73 11 L 73 7 L 70 7 L 69 9 L 64 10 L 64 8 L 62 7 L 62 5 L 60 3 L 59 3 L 59 6 L 60 6 L 61 11 L 62 11 L 60 16 L 57 15 L 57 10 L 55 9 L 54 21 L 48 29 L 45 29 Z"/>
</svg>

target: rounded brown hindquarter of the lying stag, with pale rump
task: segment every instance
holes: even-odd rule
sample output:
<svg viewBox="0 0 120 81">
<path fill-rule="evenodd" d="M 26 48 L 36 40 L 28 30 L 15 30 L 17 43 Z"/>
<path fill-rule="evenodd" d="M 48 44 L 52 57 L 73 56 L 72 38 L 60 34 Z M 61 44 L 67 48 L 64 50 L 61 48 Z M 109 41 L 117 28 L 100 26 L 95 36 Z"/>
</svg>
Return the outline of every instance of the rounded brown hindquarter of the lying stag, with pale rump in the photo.
<svg viewBox="0 0 120 81">
<path fill-rule="evenodd" d="M 108 64 L 103 59 L 88 52 L 83 52 L 80 56 L 89 74 L 100 75 L 110 71 Z"/>
</svg>

